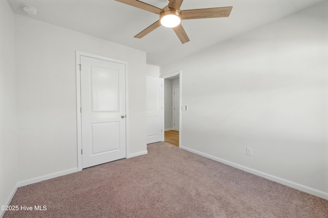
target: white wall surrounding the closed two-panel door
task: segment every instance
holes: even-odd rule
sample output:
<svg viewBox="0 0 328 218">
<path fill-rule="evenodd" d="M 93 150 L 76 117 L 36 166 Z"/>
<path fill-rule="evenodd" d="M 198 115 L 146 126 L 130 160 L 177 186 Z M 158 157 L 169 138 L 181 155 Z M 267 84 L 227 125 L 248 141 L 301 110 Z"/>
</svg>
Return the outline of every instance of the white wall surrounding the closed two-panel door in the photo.
<svg viewBox="0 0 328 218">
<path fill-rule="evenodd" d="M 129 63 L 129 155 L 147 151 L 146 53 L 15 15 L 18 180 L 77 167 L 75 51 Z"/>
</svg>

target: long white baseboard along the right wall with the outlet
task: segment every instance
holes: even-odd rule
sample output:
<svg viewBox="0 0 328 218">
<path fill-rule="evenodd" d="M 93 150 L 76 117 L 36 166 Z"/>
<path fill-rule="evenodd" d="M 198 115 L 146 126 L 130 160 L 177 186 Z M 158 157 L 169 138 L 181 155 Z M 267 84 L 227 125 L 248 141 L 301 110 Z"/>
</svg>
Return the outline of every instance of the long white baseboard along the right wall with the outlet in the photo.
<svg viewBox="0 0 328 218">
<path fill-rule="evenodd" d="M 314 195 L 314 196 L 317 196 L 319 198 L 323 198 L 325 200 L 328 200 L 328 193 L 327 192 L 324 192 L 324 191 L 321 191 L 321 190 L 318 190 L 318 189 L 315 189 L 315 188 L 311 188 L 311 187 L 308 187 L 308 186 L 305 186 L 305 185 L 301 185 L 301 184 L 298 184 L 296 182 L 292 182 L 292 181 L 289 181 L 289 180 L 286 180 L 286 179 L 282 179 L 282 178 L 279 178 L 279 177 L 276 177 L 276 176 L 273 176 L 273 175 L 270 175 L 270 174 L 267 174 L 267 173 L 263 173 L 263 172 L 257 171 L 256 169 L 252 169 L 252 168 L 249 168 L 247 166 L 243 166 L 243 165 L 240 165 L 240 164 L 228 161 L 228 160 L 224 160 L 224 159 L 221 159 L 221 158 L 218 158 L 218 157 L 214 157 L 212 155 L 208 155 L 208 154 L 205 154 L 205 153 L 202 153 L 202 152 L 199 152 L 199 151 L 187 148 L 187 147 L 181 146 L 180 148 L 183 149 L 183 150 L 198 154 L 200 156 L 207 157 L 207 158 L 210 158 L 212 160 L 215 160 L 215 161 L 230 165 L 232 167 L 241 169 L 242 171 L 245 171 L 245 172 L 248 172 L 248 173 L 263 177 L 265 179 L 269 179 L 271 181 L 278 182 L 280 184 L 289 186 L 291 188 L 295 188 L 297 190 L 309 193 L 310 195 Z"/>
</svg>

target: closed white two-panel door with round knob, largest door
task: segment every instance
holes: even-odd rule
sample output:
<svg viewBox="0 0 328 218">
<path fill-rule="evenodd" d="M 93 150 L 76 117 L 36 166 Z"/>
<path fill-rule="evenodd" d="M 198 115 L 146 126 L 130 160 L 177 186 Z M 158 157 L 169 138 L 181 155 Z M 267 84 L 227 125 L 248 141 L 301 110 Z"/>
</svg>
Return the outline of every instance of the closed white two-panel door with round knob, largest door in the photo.
<svg viewBox="0 0 328 218">
<path fill-rule="evenodd" d="M 80 56 L 83 168 L 126 157 L 125 64 Z"/>
</svg>

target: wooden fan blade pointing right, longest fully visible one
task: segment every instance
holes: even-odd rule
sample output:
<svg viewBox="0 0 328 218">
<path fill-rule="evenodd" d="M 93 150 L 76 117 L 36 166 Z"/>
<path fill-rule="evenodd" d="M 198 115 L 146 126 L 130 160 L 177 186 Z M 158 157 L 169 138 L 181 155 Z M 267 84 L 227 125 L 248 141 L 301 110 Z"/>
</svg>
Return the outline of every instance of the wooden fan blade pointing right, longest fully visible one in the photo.
<svg viewBox="0 0 328 218">
<path fill-rule="evenodd" d="M 181 11 L 182 19 L 201 19 L 215 17 L 229 17 L 232 6 L 220 8 L 204 8 Z"/>
</svg>

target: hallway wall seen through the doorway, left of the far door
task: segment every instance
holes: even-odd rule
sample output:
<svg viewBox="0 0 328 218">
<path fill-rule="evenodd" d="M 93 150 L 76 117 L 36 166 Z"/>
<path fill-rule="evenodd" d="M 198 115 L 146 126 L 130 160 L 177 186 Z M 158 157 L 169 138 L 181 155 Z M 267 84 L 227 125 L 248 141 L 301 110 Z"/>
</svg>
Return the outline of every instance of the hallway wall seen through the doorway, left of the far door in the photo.
<svg viewBox="0 0 328 218">
<path fill-rule="evenodd" d="M 164 119 L 164 129 L 173 129 L 173 92 L 172 92 L 172 80 L 164 80 L 164 105 L 165 105 L 165 119 Z"/>
</svg>

